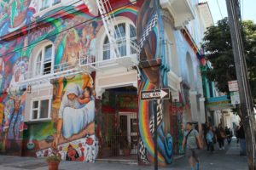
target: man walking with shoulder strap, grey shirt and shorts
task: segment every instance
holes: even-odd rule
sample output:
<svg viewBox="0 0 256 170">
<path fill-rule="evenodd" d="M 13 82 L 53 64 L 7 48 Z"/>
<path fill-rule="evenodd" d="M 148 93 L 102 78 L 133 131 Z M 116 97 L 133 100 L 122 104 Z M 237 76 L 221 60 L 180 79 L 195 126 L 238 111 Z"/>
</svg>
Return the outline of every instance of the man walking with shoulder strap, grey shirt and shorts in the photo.
<svg viewBox="0 0 256 170">
<path fill-rule="evenodd" d="M 191 170 L 199 170 L 198 149 L 202 149 L 201 138 L 197 130 L 192 127 L 192 122 L 187 122 L 186 129 L 183 135 L 182 149 L 184 150 L 186 146 L 186 156 L 189 158 Z"/>
</svg>

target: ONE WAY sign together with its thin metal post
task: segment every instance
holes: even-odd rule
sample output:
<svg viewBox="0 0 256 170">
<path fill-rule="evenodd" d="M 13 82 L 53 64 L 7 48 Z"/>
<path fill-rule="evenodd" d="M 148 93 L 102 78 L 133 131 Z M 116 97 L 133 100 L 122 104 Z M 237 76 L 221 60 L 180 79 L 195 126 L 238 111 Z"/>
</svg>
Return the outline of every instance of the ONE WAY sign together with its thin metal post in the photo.
<svg viewBox="0 0 256 170">
<path fill-rule="evenodd" d="M 157 99 L 170 99 L 170 89 L 154 89 L 150 91 L 143 91 L 141 93 L 142 100 L 154 100 L 154 170 L 158 170 L 158 149 L 157 149 Z"/>
</svg>

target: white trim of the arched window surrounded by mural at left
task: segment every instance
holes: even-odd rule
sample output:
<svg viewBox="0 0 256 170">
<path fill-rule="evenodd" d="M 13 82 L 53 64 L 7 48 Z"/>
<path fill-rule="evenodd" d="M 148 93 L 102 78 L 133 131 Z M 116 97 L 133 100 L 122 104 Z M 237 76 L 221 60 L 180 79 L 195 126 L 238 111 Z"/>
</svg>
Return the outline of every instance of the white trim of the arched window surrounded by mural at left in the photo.
<svg viewBox="0 0 256 170">
<path fill-rule="evenodd" d="M 51 45 L 52 46 L 52 52 L 51 52 L 51 68 L 50 68 L 50 73 L 49 74 L 44 74 L 44 48 Z M 45 42 L 43 44 L 39 45 L 40 48 L 38 48 L 38 52 L 35 55 L 35 59 L 33 59 L 32 62 L 32 77 L 44 77 L 47 75 L 50 75 L 54 72 L 54 56 L 55 56 L 55 46 L 52 42 Z M 41 59 L 41 65 L 40 65 L 40 73 L 37 75 L 36 71 L 37 71 L 37 60 L 38 60 L 38 55 L 40 54 L 40 52 L 42 51 L 42 59 Z"/>
</svg>

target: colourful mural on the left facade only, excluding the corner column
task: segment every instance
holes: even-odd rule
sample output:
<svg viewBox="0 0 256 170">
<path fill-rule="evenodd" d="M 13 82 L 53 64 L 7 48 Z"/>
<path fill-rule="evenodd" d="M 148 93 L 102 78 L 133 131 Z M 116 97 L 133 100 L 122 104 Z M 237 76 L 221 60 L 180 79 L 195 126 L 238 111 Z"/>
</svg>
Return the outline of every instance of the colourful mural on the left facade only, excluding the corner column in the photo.
<svg viewBox="0 0 256 170">
<path fill-rule="evenodd" d="M 28 24 L 32 20 L 30 14 L 34 12 L 33 8 L 37 8 L 36 5 L 30 0 L 1 1 L 0 36 Z M 73 14 L 67 14 L 63 18 L 49 17 L 49 22 L 40 29 L 23 31 L 20 37 L 0 43 L 1 153 L 39 157 L 58 153 L 62 159 L 68 161 L 95 161 L 98 142 L 94 132 L 94 76 L 78 74 L 56 79 L 53 82 L 52 120 L 30 122 L 26 130 L 26 87 L 16 87 L 18 82 L 32 78 L 30 73 L 33 71 L 33 57 L 36 57 L 32 53 L 40 45 L 38 42 L 54 44 L 55 71 L 76 65 L 81 51 L 85 55 L 85 64 L 95 61 L 96 34 L 102 27 L 102 21 L 100 17 L 90 20 L 92 14 L 87 10 L 80 10 L 84 7 L 82 4 L 58 9 L 60 14 Z M 49 14 L 52 12 L 49 11 Z M 15 17 L 20 13 L 26 17 L 22 18 L 20 15 L 22 20 L 19 18 L 18 23 Z M 90 21 L 85 22 L 86 20 Z M 81 22 L 84 24 L 75 26 Z"/>
</svg>

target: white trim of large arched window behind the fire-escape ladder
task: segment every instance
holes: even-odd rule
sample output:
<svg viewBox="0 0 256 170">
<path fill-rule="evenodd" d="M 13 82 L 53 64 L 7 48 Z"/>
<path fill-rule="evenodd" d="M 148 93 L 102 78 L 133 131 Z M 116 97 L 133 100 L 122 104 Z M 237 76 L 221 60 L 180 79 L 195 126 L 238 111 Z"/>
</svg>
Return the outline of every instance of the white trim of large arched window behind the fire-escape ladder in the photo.
<svg viewBox="0 0 256 170">
<path fill-rule="evenodd" d="M 133 56 L 135 54 L 131 54 L 131 45 L 130 45 L 130 41 L 131 41 L 131 33 L 130 33 L 130 25 L 131 26 L 134 26 L 135 29 L 136 29 L 136 26 L 133 24 L 133 22 L 127 18 L 123 18 L 123 19 L 119 19 L 117 18 L 117 22 L 115 23 L 115 26 L 118 26 L 119 24 L 123 24 L 125 23 L 125 41 L 126 41 L 126 55 L 125 56 Z M 101 61 L 108 61 L 109 59 L 103 59 L 103 47 L 104 47 L 104 41 L 105 41 L 105 38 L 107 37 L 107 34 L 104 32 L 102 33 L 102 38 L 100 40 L 100 44 L 101 44 L 101 52 L 99 54 L 99 59 Z M 128 40 L 128 41 L 127 41 Z M 109 41 L 109 40 L 108 40 Z M 123 56 L 123 57 L 125 57 Z M 111 45 L 110 43 L 110 59 L 114 59 L 114 56 L 113 56 L 113 46 Z"/>
</svg>

